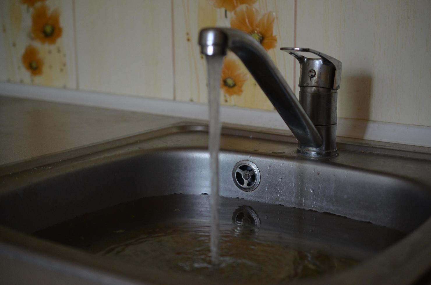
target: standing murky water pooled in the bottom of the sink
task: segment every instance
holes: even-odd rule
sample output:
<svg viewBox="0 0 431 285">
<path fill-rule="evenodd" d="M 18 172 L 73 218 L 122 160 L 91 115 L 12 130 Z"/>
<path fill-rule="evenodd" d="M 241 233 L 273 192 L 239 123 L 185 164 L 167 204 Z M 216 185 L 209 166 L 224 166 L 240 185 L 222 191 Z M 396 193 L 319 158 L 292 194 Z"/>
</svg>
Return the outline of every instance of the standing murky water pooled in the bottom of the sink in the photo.
<svg viewBox="0 0 431 285">
<path fill-rule="evenodd" d="M 333 214 L 221 197 L 220 265 L 211 266 L 209 195 L 122 203 L 35 235 L 172 276 L 247 284 L 337 273 L 403 233 Z"/>
</svg>

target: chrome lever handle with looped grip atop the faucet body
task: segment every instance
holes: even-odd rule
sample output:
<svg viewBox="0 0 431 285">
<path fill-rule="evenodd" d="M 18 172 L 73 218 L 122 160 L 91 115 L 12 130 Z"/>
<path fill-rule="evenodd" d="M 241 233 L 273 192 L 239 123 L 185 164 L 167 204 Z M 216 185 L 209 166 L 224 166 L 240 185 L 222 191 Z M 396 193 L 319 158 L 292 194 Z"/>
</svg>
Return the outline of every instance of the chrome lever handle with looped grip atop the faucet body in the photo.
<svg viewBox="0 0 431 285">
<path fill-rule="evenodd" d="M 286 51 L 299 61 L 301 65 L 299 87 L 315 86 L 340 89 L 342 63 L 338 59 L 317 50 L 303 47 L 282 47 L 280 50 Z M 314 53 L 320 56 L 320 59 L 309 59 L 297 52 Z"/>
</svg>

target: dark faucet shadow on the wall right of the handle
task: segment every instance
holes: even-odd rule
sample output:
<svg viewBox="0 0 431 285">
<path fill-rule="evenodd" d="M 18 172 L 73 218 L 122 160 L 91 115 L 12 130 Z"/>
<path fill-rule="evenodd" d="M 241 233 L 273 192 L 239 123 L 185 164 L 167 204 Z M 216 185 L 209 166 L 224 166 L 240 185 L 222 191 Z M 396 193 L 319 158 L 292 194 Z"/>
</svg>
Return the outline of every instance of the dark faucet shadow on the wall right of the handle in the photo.
<svg viewBox="0 0 431 285">
<path fill-rule="evenodd" d="M 372 99 L 372 76 L 368 74 L 353 74 L 341 79 L 338 90 L 338 116 L 356 120 L 369 121 Z M 354 130 L 355 137 L 363 139 L 366 133 L 364 127 Z"/>
</svg>

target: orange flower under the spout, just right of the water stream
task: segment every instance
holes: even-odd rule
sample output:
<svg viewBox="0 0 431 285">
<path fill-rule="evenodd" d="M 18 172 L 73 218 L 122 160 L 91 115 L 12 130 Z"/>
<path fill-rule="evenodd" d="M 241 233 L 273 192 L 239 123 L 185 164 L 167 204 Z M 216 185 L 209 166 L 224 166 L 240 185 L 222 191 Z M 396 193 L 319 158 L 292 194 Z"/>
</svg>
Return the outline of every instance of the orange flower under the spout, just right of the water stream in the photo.
<svg viewBox="0 0 431 285">
<path fill-rule="evenodd" d="M 241 95 L 242 87 L 247 81 L 247 74 L 240 72 L 240 65 L 234 59 L 226 57 L 223 62 L 222 68 L 222 80 L 220 81 L 220 87 L 228 94 Z"/>
</svg>

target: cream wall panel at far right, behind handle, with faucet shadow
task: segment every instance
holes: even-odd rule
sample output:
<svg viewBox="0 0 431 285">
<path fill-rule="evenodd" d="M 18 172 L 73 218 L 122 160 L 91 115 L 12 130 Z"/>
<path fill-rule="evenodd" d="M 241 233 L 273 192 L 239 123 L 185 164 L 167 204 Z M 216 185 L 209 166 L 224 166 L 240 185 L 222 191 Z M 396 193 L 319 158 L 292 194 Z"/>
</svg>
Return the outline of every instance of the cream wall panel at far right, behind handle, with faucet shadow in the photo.
<svg viewBox="0 0 431 285">
<path fill-rule="evenodd" d="M 428 0 L 298 1 L 298 45 L 343 62 L 339 117 L 431 126 L 430 15 Z"/>
</svg>

